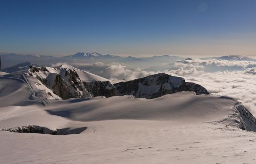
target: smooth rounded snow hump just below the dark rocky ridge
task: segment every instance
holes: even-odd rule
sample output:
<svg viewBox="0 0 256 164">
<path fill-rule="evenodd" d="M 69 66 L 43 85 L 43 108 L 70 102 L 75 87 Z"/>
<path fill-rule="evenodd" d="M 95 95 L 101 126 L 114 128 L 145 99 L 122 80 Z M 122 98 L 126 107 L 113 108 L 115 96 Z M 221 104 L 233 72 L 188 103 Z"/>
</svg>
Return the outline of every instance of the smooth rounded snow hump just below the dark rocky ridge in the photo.
<svg viewBox="0 0 256 164">
<path fill-rule="evenodd" d="M 133 96 L 90 99 L 47 111 L 78 121 L 139 119 L 203 122 L 226 118 L 233 106 L 234 101 L 230 99 L 180 92 L 155 99 Z M 188 117 L 189 120 L 186 120 Z"/>
</svg>

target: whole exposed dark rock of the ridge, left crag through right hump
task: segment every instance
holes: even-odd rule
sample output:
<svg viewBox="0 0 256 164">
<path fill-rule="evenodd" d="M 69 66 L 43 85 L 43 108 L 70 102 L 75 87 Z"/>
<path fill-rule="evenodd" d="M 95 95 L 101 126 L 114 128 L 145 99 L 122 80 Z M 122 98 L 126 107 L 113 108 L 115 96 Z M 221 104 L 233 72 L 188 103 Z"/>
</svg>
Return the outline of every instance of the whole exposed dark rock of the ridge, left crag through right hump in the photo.
<svg viewBox="0 0 256 164">
<path fill-rule="evenodd" d="M 208 93 L 204 87 L 198 84 L 187 83 L 182 77 L 165 73 L 114 85 L 110 81 L 84 81 L 79 77 L 76 70 L 71 68 L 31 68 L 29 74 L 39 79 L 42 84 L 53 90 L 53 93 L 62 99 L 121 95 L 133 95 L 136 98 L 150 99 L 180 91 L 194 91 L 196 94 Z"/>
</svg>

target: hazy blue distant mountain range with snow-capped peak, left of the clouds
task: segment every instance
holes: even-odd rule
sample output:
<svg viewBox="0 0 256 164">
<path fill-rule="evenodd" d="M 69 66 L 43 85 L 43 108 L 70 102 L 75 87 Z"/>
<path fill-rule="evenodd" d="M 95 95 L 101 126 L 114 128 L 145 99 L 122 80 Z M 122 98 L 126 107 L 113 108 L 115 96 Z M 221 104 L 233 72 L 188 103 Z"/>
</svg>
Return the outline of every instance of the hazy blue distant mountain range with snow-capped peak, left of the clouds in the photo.
<svg viewBox="0 0 256 164">
<path fill-rule="evenodd" d="M 56 63 L 129 63 L 129 67 L 137 68 L 138 63 L 140 68 L 147 68 L 148 65 L 152 64 L 162 64 L 162 63 L 174 63 L 177 60 L 184 59 L 184 57 L 179 56 L 152 56 L 152 57 L 122 57 L 118 55 L 111 54 L 100 54 L 97 52 L 88 53 L 88 52 L 78 52 L 73 55 L 54 57 L 50 55 L 20 55 L 15 53 L 0 53 L 2 59 L 2 69 L 7 67 L 12 67 L 14 65 L 30 62 L 37 64 L 39 66 L 51 66 Z"/>
</svg>

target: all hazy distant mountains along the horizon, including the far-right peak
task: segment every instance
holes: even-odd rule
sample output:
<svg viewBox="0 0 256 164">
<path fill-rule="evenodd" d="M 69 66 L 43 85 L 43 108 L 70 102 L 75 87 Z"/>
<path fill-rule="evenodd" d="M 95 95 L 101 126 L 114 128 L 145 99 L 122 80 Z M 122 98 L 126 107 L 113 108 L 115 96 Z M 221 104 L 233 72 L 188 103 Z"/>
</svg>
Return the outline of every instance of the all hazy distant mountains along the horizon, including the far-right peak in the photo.
<svg viewBox="0 0 256 164">
<path fill-rule="evenodd" d="M 85 64 L 85 63 L 95 63 L 102 62 L 104 64 L 110 63 L 120 63 L 125 65 L 127 68 L 135 69 L 141 68 L 147 71 L 158 71 L 173 68 L 173 64 L 176 61 L 182 61 L 182 63 L 186 63 L 188 60 L 192 60 L 192 58 L 185 58 L 180 56 L 170 56 L 170 55 L 160 55 L 160 56 L 152 56 L 152 57 L 122 57 L 118 55 L 111 54 L 100 54 L 97 52 L 88 53 L 88 52 L 78 52 L 73 55 L 62 56 L 62 57 L 54 57 L 50 55 L 20 55 L 15 53 L 0 53 L 2 64 L 1 69 L 6 72 L 14 72 L 18 70 L 22 70 L 24 64 L 28 68 L 31 63 L 36 64 L 38 66 L 51 66 L 56 63 L 67 63 L 69 65 L 72 64 Z M 204 57 L 201 60 L 229 60 L 229 61 L 256 61 L 251 57 L 242 56 L 242 55 L 228 55 L 228 56 L 220 56 L 220 57 Z M 29 62 L 26 63 L 26 62 Z M 17 65 L 17 66 L 14 66 Z M 21 66 L 19 66 L 21 65 Z M 8 68 L 12 67 L 12 68 Z M 19 68 L 20 67 L 20 68 Z M 6 69 L 8 68 L 8 69 Z"/>
</svg>

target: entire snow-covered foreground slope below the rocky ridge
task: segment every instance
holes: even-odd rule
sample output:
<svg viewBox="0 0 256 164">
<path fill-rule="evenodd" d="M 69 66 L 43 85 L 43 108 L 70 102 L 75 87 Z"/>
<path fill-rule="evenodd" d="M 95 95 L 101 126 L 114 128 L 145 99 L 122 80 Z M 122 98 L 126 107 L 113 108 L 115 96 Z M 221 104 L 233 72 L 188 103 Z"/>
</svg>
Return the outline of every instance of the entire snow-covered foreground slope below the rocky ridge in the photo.
<svg viewBox="0 0 256 164">
<path fill-rule="evenodd" d="M 234 99 L 185 91 L 45 103 L 26 77 L 0 76 L 1 129 L 30 125 L 67 135 L 0 131 L 1 163 L 256 161 L 255 119 Z"/>
</svg>

